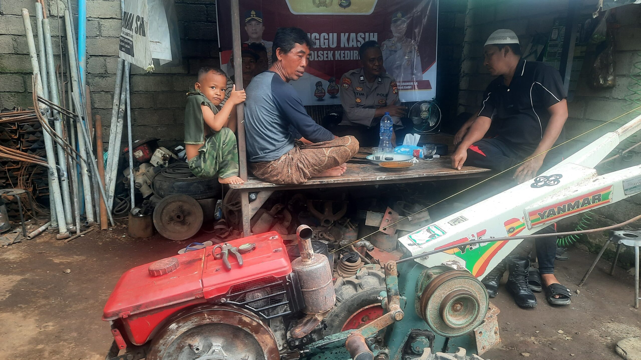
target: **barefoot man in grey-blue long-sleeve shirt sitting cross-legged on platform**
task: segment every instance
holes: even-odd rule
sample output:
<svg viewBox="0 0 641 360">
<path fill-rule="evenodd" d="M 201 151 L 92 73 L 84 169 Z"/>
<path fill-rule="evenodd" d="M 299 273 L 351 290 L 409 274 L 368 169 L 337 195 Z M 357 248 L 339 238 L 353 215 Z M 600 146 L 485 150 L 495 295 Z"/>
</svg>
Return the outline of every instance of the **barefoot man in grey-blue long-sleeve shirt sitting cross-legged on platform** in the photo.
<svg viewBox="0 0 641 360">
<path fill-rule="evenodd" d="M 312 42 L 299 28 L 279 28 L 272 66 L 247 86 L 247 160 L 254 176 L 276 184 L 341 176 L 358 152 L 353 136 L 338 138 L 307 115 L 291 80 L 304 74 Z M 294 133 L 300 136 L 294 136 Z"/>
</svg>

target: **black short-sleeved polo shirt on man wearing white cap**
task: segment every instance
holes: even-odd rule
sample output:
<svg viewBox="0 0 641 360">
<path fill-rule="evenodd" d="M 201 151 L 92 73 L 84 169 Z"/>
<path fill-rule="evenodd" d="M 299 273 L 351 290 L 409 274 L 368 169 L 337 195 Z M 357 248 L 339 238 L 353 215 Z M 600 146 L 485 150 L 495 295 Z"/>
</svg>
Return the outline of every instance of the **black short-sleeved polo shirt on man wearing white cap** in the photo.
<svg viewBox="0 0 641 360">
<path fill-rule="evenodd" d="M 533 152 L 550 120 L 547 108 L 565 97 L 567 93 L 558 70 L 541 62 L 520 60 L 509 86 L 504 84 L 503 76 L 487 86 L 478 116 L 498 121 L 498 139 Z M 556 143 L 563 142 L 564 138 L 562 131 Z"/>
</svg>

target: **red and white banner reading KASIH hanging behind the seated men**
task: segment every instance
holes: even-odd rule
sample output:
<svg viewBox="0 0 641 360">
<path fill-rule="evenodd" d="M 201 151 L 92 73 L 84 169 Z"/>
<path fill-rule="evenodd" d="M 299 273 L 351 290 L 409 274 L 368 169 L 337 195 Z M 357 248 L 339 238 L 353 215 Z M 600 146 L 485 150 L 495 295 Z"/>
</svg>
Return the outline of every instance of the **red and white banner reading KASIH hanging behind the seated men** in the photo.
<svg viewBox="0 0 641 360">
<path fill-rule="evenodd" d="M 250 40 L 251 33 L 254 41 L 258 38 L 270 48 L 271 54 L 271 41 L 280 27 L 296 26 L 312 38 L 315 46 L 306 74 L 292 82 L 304 104 L 340 103 L 335 79 L 361 67 L 358 47 L 367 40 L 381 45 L 383 65 L 397 81 L 401 101 L 435 97 L 438 0 L 239 1 L 243 42 Z M 228 1 L 217 1 L 217 10 L 221 65 L 229 70 L 232 44 Z M 314 95 L 319 81 L 323 90 L 328 86 L 333 90 L 331 96 Z"/>
</svg>

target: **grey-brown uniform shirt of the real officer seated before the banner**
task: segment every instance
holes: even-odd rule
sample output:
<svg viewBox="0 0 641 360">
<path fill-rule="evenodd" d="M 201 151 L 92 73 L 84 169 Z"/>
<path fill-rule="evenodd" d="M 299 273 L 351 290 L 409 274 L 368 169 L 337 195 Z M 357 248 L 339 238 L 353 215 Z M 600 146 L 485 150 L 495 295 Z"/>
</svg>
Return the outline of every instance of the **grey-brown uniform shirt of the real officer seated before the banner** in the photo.
<svg viewBox="0 0 641 360">
<path fill-rule="evenodd" d="M 376 108 L 401 104 L 396 82 L 388 74 L 382 74 L 374 83 L 368 83 L 363 69 L 351 70 L 343 75 L 340 86 L 340 104 L 343 106 L 340 125 L 371 127 L 381 119 L 374 119 Z M 392 117 L 392 121 L 401 125 L 399 117 Z"/>
</svg>

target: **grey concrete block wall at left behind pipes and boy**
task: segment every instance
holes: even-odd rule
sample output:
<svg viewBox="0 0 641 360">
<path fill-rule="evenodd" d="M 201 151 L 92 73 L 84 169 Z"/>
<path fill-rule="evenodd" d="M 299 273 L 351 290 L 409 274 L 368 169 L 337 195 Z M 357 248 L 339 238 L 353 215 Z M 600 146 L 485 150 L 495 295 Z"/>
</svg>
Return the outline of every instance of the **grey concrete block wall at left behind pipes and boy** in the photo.
<svg viewBox="0 0 641 360">
<path fill-rule="evenodd" d="M 57 1 L 57 4 L 56 4 Z M 74 6 L 76 1 L 72 1 Z M 54 53 L 60 53 L 58 11 L 66 1 L 47 0 Z M 31 106 L 31 65 L 21 9 L 27 8 L 35 31 L 35 1 L 0 2 L 0 108 Z M 72 8 L 77 14 L 77 9 Z M 182 142 L 185 93 L 196 82 L 205 63 L 219 63 L 215 1 L 176 0 L 181 52 L 178 66 L 160 66 L 153 74 L 131 67 L 131 117 L 133 138 L 162 138 L 163 143 Z M 74 17 L 77 24 L 77 17 Z M 64 35 L 64 21 L 60 21 Z M 77 29 L 77 26 L 76 26 Z M 101 115 L 103 136 L 108 140 L 118 45 L 121 29 L 120 2 L 87 0 L 87 85 L 91 88 L 93 115 Z M 62 37 L 63 51 L 65 38 Z M 60 63 L 60 59 L 56 59 Z M 122 136 L 126 140 L 126 130 Z M 125 141 L 126 142 L 126 141 Z"/>
</svg>

